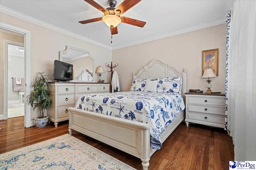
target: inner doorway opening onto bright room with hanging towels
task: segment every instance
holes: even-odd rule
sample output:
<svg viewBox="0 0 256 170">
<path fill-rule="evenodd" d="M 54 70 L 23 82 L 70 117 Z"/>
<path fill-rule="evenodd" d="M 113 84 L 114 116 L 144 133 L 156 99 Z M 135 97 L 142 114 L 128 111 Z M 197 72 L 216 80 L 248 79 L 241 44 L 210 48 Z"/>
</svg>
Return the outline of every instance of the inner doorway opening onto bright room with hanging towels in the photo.
<svg viewBox="0 0 256 170">
<path fill-rule="evenodd" d="M 24 38 L 24 36 L 22 36 Z M 21 37 L 20 37 L 21 39 Z M 5 40 L 6 41 L 6 40 Z M 24 44 L 16 41 L 5 42 L 7 47 L 8 60 L 8 119 L 13 117 L 24 116 L 24 94 L 25 94 L 25 58 L 24 58 Z"/>
</svg>

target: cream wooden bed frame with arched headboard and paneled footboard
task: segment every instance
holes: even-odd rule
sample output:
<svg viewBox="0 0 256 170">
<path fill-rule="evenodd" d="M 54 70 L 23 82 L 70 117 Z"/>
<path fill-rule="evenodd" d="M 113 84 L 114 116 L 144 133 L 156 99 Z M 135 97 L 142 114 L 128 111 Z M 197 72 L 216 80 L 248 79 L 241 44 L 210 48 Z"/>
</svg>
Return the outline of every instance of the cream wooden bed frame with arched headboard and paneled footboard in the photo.
<svg viewBox="0 0 256 170">
<path fill-rule="evenodd" d="M 187 83 L 185 68 L 183 72 L 178 72 L 176 68 L 169 66 L 168 64 L 153 60 L 148 65 L 144 66 L 138 74 L 133 73 L 134 79 L 156 79 L 159 77 L 175 76 L 180 76 L 182 78 L 181 92 L 184 95 Z M 107 94 L 101 95 L 104 96 Z M 128 154 L 140 158 L 142 160 L 143 169 L 148 169 L 150 156 L 156 151 L 156 149 L 152 149 L 150 145 L 150 123 L 94 113 L 90 111 L 90 109 L 82 110 L 72 107 L 68 109 L 68 131 L 70 135 L 72 135 L 72 130 L 75 130 L 127 152 Z M 161 142 L 166 140 L 183 119 L 184 111 L 176 115 L 175 119 L 172 120 L 172 123 L 165 127 L 164 132 L 160 135 Z"/>
</svg>

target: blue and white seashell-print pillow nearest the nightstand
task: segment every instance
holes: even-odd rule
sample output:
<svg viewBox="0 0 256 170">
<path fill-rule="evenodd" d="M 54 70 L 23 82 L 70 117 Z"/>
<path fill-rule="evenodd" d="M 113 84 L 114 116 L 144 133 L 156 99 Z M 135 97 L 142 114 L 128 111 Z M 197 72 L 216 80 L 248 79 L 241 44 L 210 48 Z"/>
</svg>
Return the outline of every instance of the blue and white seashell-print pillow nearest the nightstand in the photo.
<svg viewBox="0 0 256 170">
<path fill-rule="evenodd" d="M 157 92 L 181 93 L 182 79 L 180 76 L 159 78 Z"/>
</svg>

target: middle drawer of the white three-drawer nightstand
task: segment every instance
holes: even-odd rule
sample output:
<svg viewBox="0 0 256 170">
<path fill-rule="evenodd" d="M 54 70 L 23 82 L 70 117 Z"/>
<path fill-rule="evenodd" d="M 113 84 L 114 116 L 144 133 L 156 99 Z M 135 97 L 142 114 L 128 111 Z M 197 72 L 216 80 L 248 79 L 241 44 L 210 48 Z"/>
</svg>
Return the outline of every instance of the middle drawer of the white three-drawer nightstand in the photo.
<svg viewBox="0 0 256 170">
<path fill-rule="evenodd" d="M 188 111 L 225 115 L 224 107 L 210 107 L 207 105 L 206 106 L 198 106 L 198 105 L 188 104 Z"/>
</svg>

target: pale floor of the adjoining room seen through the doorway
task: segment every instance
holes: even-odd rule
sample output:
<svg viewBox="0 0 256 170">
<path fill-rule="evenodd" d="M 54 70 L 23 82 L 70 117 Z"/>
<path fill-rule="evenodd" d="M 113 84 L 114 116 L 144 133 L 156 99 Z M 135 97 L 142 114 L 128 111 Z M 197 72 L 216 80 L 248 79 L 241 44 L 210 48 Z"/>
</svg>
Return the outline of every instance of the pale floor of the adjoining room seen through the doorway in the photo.
<svg viewBox="0 0 256 170">
<path fill-rule="evenodd" d="M 12 103 L 8 104 L 8 118 L 24 116 L 24 104 Z"/>
</svg>

